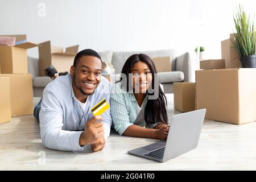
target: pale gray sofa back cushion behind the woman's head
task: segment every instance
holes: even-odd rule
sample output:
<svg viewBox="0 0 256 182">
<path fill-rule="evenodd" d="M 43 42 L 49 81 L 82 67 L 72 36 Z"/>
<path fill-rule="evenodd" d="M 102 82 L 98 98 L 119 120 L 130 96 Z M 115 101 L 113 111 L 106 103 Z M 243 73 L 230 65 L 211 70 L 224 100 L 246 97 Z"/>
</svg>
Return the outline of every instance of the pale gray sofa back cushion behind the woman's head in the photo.
<svg viewBox="0 0 256 182">
<path fill-rule="evenodd" d="M 113 52 L 112 64 L 115 68 L 115 73 L 121 73 L 123 64 L 131 55 L 135 53 L 144 53 L 150 56 L 151 59 L 154 57 L 167 57 L 170 56 L 172 59 L 172 71 L 175 71 L 176 51 L 174 49 L 159 50 L 159 51 L 130 51 L 130 52 Z"/>
</svg>

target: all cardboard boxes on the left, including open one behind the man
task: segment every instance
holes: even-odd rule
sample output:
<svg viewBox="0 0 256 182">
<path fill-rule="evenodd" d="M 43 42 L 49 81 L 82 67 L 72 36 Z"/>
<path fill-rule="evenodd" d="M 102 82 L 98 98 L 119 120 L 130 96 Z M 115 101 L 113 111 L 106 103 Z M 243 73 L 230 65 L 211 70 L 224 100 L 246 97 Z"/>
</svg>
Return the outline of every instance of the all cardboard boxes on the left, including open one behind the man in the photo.
<svg viewBox="0 0 256 182">
<path fill-rule="evenodd" d="M 28 74 L 27 49 L 39 46 L 39 75 L 52 64 L 57 71 L 69 71 L 79 46 L 51 46 L 47 41 L 40 44 L 27 42 L 26 35 L 15 36 L 15 46 L 0 46 L 0 123 L 11 117 L 33 113 L 32 75 Z"/>
</svg>

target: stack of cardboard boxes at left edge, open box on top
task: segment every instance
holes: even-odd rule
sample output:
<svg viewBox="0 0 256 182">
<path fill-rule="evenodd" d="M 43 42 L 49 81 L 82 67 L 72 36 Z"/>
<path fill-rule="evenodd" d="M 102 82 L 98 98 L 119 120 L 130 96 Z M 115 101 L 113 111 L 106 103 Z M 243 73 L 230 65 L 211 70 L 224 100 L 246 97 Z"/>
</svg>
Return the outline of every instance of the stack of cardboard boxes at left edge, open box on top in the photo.
<svg viewBox="0 0 256 182">
<path fill-rule="evenodd" d="M 20 44 L 0 46 L 0 123 L 9 122 L 11 117 L 33 113 L 32 75 L 28 74 L 27 49 L 38 46 L 26 42 L 26 35 L 5 36 L 15 36 Z"/>
</svg>

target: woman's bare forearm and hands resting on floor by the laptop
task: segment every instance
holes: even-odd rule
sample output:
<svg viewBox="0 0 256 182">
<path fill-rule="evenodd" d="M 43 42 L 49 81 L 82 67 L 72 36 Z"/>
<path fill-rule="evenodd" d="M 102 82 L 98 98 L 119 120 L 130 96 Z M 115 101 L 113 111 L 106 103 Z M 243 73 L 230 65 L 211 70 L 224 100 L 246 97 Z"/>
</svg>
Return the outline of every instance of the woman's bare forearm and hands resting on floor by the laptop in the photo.
<svg viewBox="0 0 256 182">
<path fill-rule="evenodd" d="M 131 125 L 127 127 L 124 136 L 127 137 L 143 137 L 143 138 L 155 138 L 165 140 L 167 138 L 166 127 L 161 129 L 147 129 L 138 125 Z"/>
</svg>

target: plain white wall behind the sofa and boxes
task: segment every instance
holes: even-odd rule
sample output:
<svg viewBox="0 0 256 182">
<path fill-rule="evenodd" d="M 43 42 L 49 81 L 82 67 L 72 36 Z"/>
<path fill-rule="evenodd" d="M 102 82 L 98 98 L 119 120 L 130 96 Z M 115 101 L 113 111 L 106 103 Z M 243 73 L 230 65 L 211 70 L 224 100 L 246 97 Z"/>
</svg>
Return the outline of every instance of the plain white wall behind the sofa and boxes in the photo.
<svg viewBox="0 0 256 182">
<path fill-rule="evenodd" d="M 97 51 L 191 51 L 200 42 L 214 59 L 233 32 L 239 2 L 255 12 L 254 0 L 0 0 L 0 35 L 27 34 L 30 42 Z M 28 55 L 37 57 L 37 48 Z"/>
</svg>

